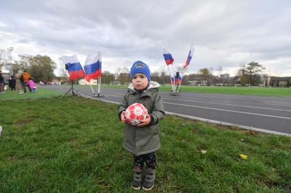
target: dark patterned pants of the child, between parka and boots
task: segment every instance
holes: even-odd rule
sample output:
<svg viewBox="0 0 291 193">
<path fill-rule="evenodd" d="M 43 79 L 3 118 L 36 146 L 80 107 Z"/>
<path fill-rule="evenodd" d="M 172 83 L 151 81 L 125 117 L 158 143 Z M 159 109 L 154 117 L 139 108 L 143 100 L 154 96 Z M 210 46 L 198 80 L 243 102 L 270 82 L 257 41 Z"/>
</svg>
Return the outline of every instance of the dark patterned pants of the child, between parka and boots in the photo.
<svg viewBox="0 0 291 193">
<path fill-rule="evenodd" d="M 142 169 L 144 167 L 144 162 L 147 164 L 147 168 L 155 169 L 157 167 L 157 160 L 155 155 L 157 154 L 156 151 L 152 153 L 136 156 L 134 155 L 134 168 Z"/>
</svg>

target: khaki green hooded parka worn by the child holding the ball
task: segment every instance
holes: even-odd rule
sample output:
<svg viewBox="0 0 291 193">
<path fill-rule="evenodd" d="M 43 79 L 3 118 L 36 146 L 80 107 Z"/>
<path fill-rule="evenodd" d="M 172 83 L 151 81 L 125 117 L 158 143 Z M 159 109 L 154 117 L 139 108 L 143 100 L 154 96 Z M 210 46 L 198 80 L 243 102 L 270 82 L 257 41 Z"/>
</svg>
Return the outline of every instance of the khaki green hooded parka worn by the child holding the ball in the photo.
<svg viewBox="0 0 291 193">
<path fill-rule="evenodd" d="M 160 149 L 160 136 L 158 123 L 165 115 L 162 98 L 159 95 L 159 83 L 151 81 L 146 91 L 138 93 L 134 90 L 132 83 L 129 85 L 127 93 L 123 98 L 123 103 L 118 106 L 118 117 L 127 109 L 127 106 L 136 102 L 145 106 L 151 115 L 151 123 L 142 128 L 125 123 L 125 138 L 123 147 L 135 155 L 144 155 Z"/>
</svg>

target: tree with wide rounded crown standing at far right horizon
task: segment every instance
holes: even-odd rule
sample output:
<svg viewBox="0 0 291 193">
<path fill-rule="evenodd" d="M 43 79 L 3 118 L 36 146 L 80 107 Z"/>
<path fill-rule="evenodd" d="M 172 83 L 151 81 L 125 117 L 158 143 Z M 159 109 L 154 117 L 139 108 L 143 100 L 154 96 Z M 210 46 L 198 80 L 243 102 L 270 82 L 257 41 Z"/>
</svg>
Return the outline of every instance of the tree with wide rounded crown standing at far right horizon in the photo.
<svg viewBox="0 0 291 193">
<path fill-rule="evenodd" d="M 263 70 L 265 70 L 265 68 L 262 65 L 260 65 L 257 62 L 252 61 L 252 62 L 244 65 L 243 69 L 245 70 L 245 73 L 247 75 L 249 75 L 249 84 L 250 85 L 253 86 L 253 85 L 257 85 L 258 83 L 260 83 L 261 78 L 257 74 L 259 72 L 262 72 Z M 253 80 L 255 80 L 255 81 L 253 81 Z"/>
</svg>

